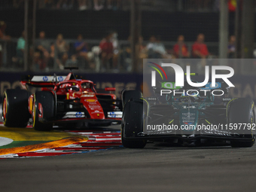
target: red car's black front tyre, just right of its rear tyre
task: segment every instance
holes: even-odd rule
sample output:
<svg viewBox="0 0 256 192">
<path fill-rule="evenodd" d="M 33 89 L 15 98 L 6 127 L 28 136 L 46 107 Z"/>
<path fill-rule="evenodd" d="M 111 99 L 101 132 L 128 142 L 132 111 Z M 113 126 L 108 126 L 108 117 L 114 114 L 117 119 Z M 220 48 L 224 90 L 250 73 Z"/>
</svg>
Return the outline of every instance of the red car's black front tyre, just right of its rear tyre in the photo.
<svg viewBox="0 0 256 192">
<path fill-rule="evenodd" d="M 42 107 L 42 114 L 40 106 Z M 32 111 L 33 128 L 38 131 L 49 131 L 53 128 L 53 123 L 41 123 L 39 116 L 44 120 L 49 120 L 54 117 L 55 99 L 50 91 L 37 91 L 34 95 L 34 104 Z"/>
</svg>

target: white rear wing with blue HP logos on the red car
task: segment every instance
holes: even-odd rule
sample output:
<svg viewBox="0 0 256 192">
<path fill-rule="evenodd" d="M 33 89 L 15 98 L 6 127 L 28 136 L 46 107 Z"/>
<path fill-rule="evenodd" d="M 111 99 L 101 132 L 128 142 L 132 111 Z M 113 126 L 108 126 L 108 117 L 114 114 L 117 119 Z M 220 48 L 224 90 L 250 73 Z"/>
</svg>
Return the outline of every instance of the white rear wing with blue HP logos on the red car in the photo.
<svg viewBox="0 0 256 192">
<path fill-rule="evenodd" d="M 32 87 L 54 87 L 56 83 L 64 81 L 67 78 L 65 75 L 26 75 L 23 81 L 20 81 L 23 89 L 26 86 Z"/>
</svg>

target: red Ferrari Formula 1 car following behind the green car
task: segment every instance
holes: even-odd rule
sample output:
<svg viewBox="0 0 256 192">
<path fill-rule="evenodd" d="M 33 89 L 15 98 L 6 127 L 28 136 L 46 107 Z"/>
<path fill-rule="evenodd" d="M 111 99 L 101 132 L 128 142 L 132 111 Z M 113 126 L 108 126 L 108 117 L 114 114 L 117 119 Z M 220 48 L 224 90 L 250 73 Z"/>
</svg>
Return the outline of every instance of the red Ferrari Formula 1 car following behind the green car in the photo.
<svg viewBox="0 0 256 192">
<path fill-rule="evenodd" d="M 26 127 L 32 117 L 35 130 L 57 126 L 109 126 L 119 124 L 122 104 L 113 93 L 97 93 L 93 81 L 75 78 L 72 69 L 67 76 L 33 76 L 21 81 L 23 90 L 6 90 L 2 118 L 5 126 Z M 29 96 L 27 87 L 41 87 Z"/>
</svg>

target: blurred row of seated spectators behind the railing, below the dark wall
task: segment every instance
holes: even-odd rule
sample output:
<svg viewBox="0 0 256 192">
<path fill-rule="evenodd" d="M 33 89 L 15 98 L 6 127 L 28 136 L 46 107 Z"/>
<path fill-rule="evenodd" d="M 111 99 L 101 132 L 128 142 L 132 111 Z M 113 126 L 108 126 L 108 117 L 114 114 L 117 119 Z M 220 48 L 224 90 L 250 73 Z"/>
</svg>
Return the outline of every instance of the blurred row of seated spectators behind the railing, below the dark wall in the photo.
<svg viewBox="0 0 256 192">
<path fill-rule="evenodd" d="M 4 27 L 0 29 L 3 30 Z M 23 67 L 23 50 L 25 48 L 24 32 L 22 32 L 17 42 L 11 41 L 11 37 L 0 31 L 2 40 L 10 41 L 9 49 L 14 49 L 15 53 L 11 56 L 8 66 L 14 68 Z M 234 58 L 236 37 L 230 36 L 228 45 L 228 58 Z M 33 60 L 34 71 L 47 71 L 49 69 L 64 69 L 68 66 L 78 66 L 79 69 L 91 69 L 96 72 L 105 72 L 109 69 L 119 71 L 131 71 L 131 47 L 130 37 L 127 41 L 118 41 L 118 33 L 115 31 L 107 32 L 101 41 L 85 41 L 83 35 L 78 34 L 77 39 L 66 40 L 61 33 L 55 40 L 47 39 L 44 31 L 39 32 L 35 41 L 34 49 L 29 51 Z M 0 51 L 0 60 L 4 55 Z M 10 56 L 9 56 L 10 57 Z M 184 35 L 178 35 L 177 41 L 165 44 L 159 35 L 151 35 L 148 41 L 142 36 L 139 38 L 139 59 L 173 59 L 173 58 L 218 58 L 214 53 L 210 53 L 205 43 L 205 35 L 200 33 L 195 37 L 193 43 L 188 44 Z M 6 58 L 5 58 L 6 59 Z M 141 61 L 142 63 L 142 61 Z M 0 64 L 5 66 L 3 63 Z"/>
</svg>

